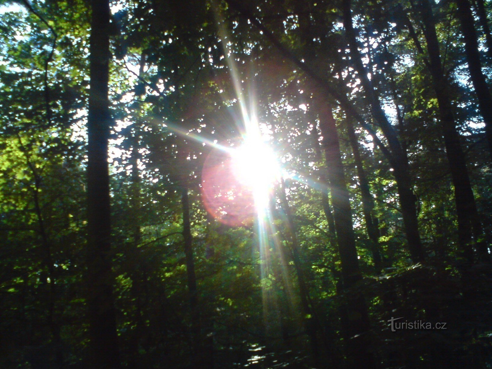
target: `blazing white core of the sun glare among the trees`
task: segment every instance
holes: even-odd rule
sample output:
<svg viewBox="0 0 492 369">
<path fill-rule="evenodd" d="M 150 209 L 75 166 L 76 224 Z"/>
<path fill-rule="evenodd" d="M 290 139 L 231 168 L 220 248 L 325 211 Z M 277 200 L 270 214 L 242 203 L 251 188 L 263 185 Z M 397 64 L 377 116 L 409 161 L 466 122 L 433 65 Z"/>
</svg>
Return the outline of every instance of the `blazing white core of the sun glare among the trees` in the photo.
<svg viewBox="0 0 492 369">
<path fill-rule="evenodd" d="M 279 179 L 280 166 L 273 150 L 260 138 L 249 138 L 232 153 L 237 180 L 252 189 L 255 206 L 266 209 L 270 189 Z"/>
</svg>

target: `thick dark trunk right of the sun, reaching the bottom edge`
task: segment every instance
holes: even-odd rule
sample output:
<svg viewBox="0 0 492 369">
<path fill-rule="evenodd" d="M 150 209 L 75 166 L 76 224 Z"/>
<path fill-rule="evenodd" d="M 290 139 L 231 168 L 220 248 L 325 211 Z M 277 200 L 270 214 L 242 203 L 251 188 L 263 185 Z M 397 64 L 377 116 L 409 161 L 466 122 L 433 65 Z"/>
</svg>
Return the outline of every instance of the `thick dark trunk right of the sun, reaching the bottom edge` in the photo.
<svg viewBox="0 0 492 369">
<path fill-rule="evenodd" d="M 362 279 L 355 247 L 355 234 L 352 226 L 350 194 L 345 182 L 341 161 L 338 131 L 332 109 L 323 101 L 317 103 L 319 125 L 323 136 L 323 149 L 328 168 L 328 183 L 332 194 L 333 216 L 337 233 L 338 252 L 341 262 L 341 279 L 346 293 L 346 317 L 341 319 L 344 338 L 347 340 L 347 356 L 354 367 L 373 368 L 374 359 L 369 351 L 367 333 L 369 313 L 364 297 L 350 289 Z"/>
</svg>

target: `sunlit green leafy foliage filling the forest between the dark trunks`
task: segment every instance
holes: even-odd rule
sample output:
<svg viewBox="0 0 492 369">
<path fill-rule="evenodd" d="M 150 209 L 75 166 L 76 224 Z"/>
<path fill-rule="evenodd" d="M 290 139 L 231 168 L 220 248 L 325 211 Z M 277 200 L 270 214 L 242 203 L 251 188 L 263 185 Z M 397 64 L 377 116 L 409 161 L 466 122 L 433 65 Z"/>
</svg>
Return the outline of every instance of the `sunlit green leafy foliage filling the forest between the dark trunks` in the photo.
<svg viewBox="0 0 492 369">
<path fill-rule="evenodd" d="M 343 330 L 344 319 L 353 317 L 344 309 L 359 296 L 368 304 L 366 336 L 382 368 L 492 365 L 490 265 L 460 259 L 439 106 L 427 55 L 415 43 L 425 43 L 420 16 L 413 1 L 352 2 L 371 84 L 408 156 L 427 259 L 412 264 L 392 164 L 357 126 L 382 255 L 383 270 L 376 273 L 346 124 L 354 117 L 330 99 L 364 277 L 348 289 L 326 216 L 332 168 L 313 103 L 326 86 L 307 70 L 346 98 L 383 144 L 387 137 L 373 123 L 351 66 L 341 1 L 253 1 L 245 8 L 236 1 L 112 3 L 111 260 L 124 366 L 199 368 L 199 357 L 203 368 L 212 367 L 212 359 L 215 368 L 350 368 L 353 338 Z M 0 366 L 85 368 L 90 9 L 81 0 L 32 1 L 31 10 L 23 3 L 0 2 Z M 454 2 L 432 4 L 490 247 L 492 172 L 483 119 L 467 82 Z M 57 34 L 51 58 L 50 28 Z M 484 58 L 489 77 L 491 67 Z M 268 133 L 285 176 L 285 185 L 271 190 L 266 236 L 255 221 L 220 222 L 203 201 L 202 170 L 212 142 L 237 146 L 246 116 Z M 196 311 L 183 188 L 191 208 Z M 448 330 L 392 332 L 391 317 L 445 322 Z"/>
</svg>

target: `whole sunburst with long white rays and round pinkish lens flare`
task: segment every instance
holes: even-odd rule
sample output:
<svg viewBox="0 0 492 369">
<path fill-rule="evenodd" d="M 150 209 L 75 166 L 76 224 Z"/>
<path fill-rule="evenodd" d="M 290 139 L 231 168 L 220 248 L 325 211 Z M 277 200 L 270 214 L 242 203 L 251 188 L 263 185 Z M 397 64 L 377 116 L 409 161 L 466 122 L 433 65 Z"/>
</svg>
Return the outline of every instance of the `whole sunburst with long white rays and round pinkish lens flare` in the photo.
<svg viewBox="0 0 492 369">
<path fill-rule="evenodd" d="M 201 142 L 212 150 L 205 159 L 202 170 L 201 190 L 207 211 L 215 218 L 230 226 L 254 224 L 257 233 L 258 251 L 262 260 L 260 267 L 261 280 L 267 281 L 273 268 L 272 262 L 278 262 L 282 278 L 286 284 L 286 299 L 293 305 L 293 296 L 287 260 L 282 251 L 281 240 L 277 235 L 275 219 L 271 209 L 272 192 L 282 176 L 279 157 L 268 143 L 258 122 L 256 112 L 256 95 L 252 79 L 241 78 L 237 61 L 231 49 L 224 19 L 216 7 L 216 20 L 219 36 L 223 45 L 224 59 L 227 62 L 231 82 L 236 94 L 236 101 L 241 112 L 241 122 L 238 126 L 242 140 L 234 145 L 224 146 L 196 133 L 186 131 L 177 124 L 167 123 L 167 128 L 185 139 Z M 249 101 L 246 102 L 244 82 L 247 80 Z M 238 120 L 233 120 L 237 122 Z M 162 123 L 160 123 L 162 124 Z M 229 142 L 230 143 L 230 142 Z M 271 260 L 273 254 L 279 260 Z M 265 327 L 269 309 L 277 313 L 278 302 L 270 301 L 271 296 L 267 287 L 262 284 L 263 309 Z M 270 306 L 272 305 L 272 306 Z"/>
</svg>

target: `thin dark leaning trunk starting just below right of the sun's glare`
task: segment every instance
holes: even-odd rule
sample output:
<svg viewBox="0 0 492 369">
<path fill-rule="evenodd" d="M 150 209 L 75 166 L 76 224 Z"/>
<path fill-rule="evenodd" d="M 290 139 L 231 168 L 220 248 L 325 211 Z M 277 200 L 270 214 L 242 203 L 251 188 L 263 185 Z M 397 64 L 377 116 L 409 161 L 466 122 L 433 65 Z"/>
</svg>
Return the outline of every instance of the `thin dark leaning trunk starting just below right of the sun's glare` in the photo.
<svg viewBox="0 0 492 369">
<path fill-rule="evenodd" d="M 290 212 L 289 202 L 287 196 L 285 195 L 285 182 L 283 178 L 281 179 L 281 191 L 280 191 L 280 201 L 282 202 L 282 208 L 287 218 L 287 233 L 291 241 L 291 256 L 294 262 L 294 269 L 297 274 L 297 283 L 299 285 L 299 295 L 301 297 L 301 306 L 305 314 L 305 325 L 306 332 L 309 336 L 311 343 L 311 350 L 313 354 L 314 361 L 317 362 L 319 358 L 318 349 L 318 319 L 316 317 L 315 311 L 312 309 L 311 299 L 309 297 L 309 291 L 306 285 L 306 280 L 303 272 L 301 256 L 299 251 L 299 243 L 296 236 L 296 228 L 294 224 L 294 219 L 292 218 L 292 213 Z"/>
</svg>

